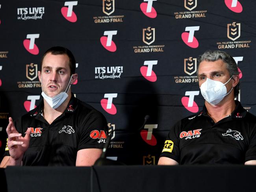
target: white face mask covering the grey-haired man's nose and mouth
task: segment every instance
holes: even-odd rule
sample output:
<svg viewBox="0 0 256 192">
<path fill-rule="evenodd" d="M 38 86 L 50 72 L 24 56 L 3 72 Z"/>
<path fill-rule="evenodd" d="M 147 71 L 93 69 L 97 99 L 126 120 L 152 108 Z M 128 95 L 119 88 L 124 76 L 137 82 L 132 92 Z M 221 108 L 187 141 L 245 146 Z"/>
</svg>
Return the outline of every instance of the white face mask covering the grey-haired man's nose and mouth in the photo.
<svg viewBox="0 0 256 192">
<path fill-rule="evenodd" d="M 232 79 L 232 77 L 230 79 Z M 228 81 L 230 81 L 230 79 Z M 228 83 L 228 81 L 226 83 Z M 200 87 L 201 94 L 208 103 L 211 105 L 217 105 L 233 89 L 232 87 L 232 89 L 227 93 L 225 86 L 226 83 L 223 84 L 221 81 L 215 81 L 207 78 Z"/>
</svg>

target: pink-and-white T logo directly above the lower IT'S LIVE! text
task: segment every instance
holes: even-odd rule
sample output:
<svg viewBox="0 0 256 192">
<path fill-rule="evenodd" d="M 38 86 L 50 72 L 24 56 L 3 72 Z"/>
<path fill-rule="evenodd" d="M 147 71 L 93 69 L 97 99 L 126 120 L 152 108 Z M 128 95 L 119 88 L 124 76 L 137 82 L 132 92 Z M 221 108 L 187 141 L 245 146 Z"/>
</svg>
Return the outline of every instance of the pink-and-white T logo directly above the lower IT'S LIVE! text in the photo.
<svg viewBox="0 0 256 192">
<path fill-rule="evenodd" d="M 104 31 L 104 35 L 107 35 L 107 37 L 106 36 L 100 37 L 100 43 L 106 50 L 110 52 L 115 52 L 117 50 L 117 46 L 115 45 L 115 42 L 112 41 L 112 38 L 113 38 L 113 35 L 117 35 L 117 30 Z"/>
</svg>

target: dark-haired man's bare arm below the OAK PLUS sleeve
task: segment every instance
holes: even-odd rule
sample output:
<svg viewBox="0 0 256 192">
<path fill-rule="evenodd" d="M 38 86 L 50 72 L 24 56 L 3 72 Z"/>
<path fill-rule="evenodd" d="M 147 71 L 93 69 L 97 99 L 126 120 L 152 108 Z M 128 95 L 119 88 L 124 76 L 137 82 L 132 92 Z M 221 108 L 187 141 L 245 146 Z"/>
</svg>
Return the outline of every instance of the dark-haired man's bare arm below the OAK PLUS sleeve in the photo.
<svg viewBox="0 0 256 192">
<path fill-rule="evenodd" d="M 77 151 L 76 166 L 93 166 L 101 153 L 102 149 L 82 149 Z"/>
</svg>

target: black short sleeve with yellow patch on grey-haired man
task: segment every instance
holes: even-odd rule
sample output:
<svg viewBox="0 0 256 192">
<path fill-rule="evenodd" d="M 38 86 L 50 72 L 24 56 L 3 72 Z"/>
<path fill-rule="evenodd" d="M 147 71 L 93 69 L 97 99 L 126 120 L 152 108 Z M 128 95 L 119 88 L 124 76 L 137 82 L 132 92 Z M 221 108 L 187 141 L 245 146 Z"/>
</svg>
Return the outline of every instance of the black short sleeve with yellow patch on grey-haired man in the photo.
<svg viewBox="0 0 256 192">
<path fill-rule="evenodd" d="M 160 157 L 168 157 L 177 162 L 180 162 L 180 148 L 178 140 L 178 130 L 181 127 L 181 122 L 177 122 L 169 131 L 165 140 L 162 153 Z"/>
</svg>

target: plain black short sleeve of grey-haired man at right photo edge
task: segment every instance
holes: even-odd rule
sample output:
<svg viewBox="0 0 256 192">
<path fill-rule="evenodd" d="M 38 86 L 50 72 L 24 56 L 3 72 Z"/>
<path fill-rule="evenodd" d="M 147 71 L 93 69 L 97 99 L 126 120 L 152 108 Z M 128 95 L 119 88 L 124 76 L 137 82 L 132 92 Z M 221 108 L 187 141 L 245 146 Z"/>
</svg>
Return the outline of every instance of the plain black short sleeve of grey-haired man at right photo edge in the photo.
<svg viewBox="0 0 256 192">
<path fill-rule="evenodd" d="M 249 134 L 249 146 L 245 153 L 245 162 L 250 160 L 256 160 L 256 124 Z"/>
</svg>

